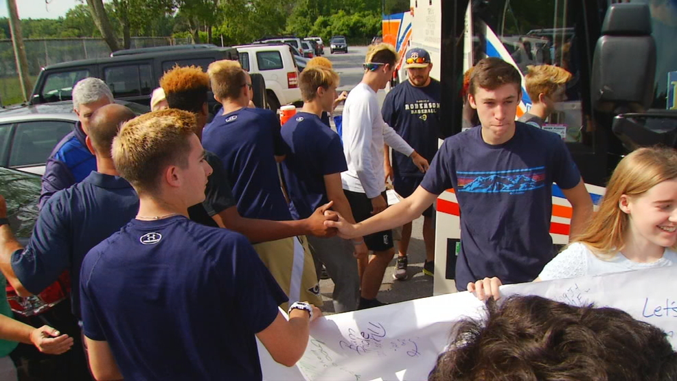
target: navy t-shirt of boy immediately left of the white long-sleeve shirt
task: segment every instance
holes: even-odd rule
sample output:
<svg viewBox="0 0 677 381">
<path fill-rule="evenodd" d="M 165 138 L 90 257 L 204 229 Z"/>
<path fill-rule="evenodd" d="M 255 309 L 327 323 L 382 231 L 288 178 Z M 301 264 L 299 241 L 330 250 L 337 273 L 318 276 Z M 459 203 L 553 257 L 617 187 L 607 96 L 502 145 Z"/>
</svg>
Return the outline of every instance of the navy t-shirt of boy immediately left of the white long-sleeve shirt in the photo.
<svg viewBox="0 0 677 381">
<path fill-rule="evenodd" d="M 289 210 L 301 220 L 329 202 L 324 176 L 348 170 L 341 137 L 317 115 L 297 113 L 282 126 L 282 139 L 290 150 L 282 162 Z"/>
</svg>

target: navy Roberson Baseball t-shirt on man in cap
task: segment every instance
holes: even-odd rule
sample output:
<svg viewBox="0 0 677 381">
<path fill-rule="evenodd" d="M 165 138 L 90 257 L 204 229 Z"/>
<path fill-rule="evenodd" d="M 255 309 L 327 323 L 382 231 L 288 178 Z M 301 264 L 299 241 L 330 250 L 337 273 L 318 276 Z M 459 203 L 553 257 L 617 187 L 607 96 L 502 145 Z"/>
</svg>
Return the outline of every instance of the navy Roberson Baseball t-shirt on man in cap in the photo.
<svg viewBox="0 0 677 381">
<path fill-rule="evenodd" d="M 381 113 L 383 120 L 409 146 L 431 162 L 437 153 L 437 139 L 441 137 L 439 102 L 441 86 L 431 78 L 425 87 L 413 86 L 409 81 L 395 86 L 385 97 Z M 393 150 L 395 176 L 423 177 L 410 157 Z"/>
</svg>

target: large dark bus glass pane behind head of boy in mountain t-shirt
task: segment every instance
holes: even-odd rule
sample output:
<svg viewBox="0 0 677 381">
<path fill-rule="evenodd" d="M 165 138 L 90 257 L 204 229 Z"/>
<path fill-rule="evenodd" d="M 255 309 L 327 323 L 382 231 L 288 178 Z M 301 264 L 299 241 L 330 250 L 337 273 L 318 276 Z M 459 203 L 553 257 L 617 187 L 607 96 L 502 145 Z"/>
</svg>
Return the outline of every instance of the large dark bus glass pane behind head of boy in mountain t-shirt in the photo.
<svg viewBox="0 0 677 381">
<path fill-rule="evenodd" d="M 584 28 L 575 28 L 576 1 L 491 1 L 473 9 L 473 65 L 481 58 L 494 56 L 511 62 L 523 76 L 531 65 L 555 65 L 572 73 L 566 84 L 563 102 L 546 119 L 544 128 L 558 133 L 568 143 L 582 143 L 592 149 L 592 126 L 586 117 L 589 108 L 587 86 L 582 82 L 583 57 L 588 51 Z M 570 3 L 570 6 L 567 6 Z M 522 86 L 523 101 L 518 116 L 531 108 L 531 97 Z"/>
</svg>

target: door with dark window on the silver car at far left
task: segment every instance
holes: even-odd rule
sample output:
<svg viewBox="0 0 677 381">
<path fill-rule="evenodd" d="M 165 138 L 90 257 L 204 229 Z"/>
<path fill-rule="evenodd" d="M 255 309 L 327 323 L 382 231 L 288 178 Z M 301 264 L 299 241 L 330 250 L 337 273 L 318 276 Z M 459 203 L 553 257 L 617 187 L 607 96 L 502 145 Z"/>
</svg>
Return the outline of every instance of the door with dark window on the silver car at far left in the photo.
<svg viewBox="0 0 677 381">
<path fill-rule="evenodd" d="M 0 139 L 5 130 L 5 166 L 34 174 L 45 173 L 45 162 L 54 147 L 73 130 L 74 121 L 40 120 L 16 122 L 0 126 Z M 2 146 L 0 140 L 0 146 Z M 0 156 L 1 157 L 1 156 Z"/>
</svg>

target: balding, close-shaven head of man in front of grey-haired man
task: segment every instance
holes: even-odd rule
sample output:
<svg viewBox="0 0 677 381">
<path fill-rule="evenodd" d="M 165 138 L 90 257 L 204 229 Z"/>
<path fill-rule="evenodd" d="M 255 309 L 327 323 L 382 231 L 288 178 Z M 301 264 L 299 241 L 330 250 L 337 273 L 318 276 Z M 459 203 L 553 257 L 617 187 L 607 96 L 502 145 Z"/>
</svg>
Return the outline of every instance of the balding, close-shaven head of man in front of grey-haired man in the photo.
<svg viewBox="0 0 677 381">
<path fill-rule="evenodd" d="M 106 106 L 97 108 L 91 116 L 88 133 L 96 154 L 110 158 L 113 139 L 120 126 L 136 116 L 133 111 L 122 104 L 106 104 Z"/>
</svg>

